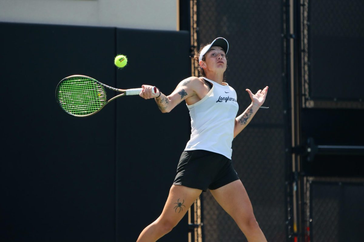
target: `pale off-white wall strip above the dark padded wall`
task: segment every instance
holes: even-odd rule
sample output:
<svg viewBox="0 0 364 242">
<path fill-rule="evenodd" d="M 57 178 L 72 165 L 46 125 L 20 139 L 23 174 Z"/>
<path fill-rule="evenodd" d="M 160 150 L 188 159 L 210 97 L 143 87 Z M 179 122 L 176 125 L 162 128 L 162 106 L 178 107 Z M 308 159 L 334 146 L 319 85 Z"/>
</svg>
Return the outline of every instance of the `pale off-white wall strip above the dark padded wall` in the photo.
<svg viewBox="0 0 364 242">
<path fill-rule="evenodd" d="M 177 0 L 0 0 L 0 21 L 177 30 Z"/>
</svg>

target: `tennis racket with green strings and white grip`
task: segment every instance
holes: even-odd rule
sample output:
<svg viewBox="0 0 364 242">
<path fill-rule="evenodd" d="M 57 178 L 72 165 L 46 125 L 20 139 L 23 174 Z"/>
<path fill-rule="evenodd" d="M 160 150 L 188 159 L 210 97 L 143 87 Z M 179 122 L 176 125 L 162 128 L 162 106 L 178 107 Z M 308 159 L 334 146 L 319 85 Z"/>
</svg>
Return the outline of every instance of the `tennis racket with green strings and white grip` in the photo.
<svg viewBox="0 0 364 242">
<path fill-rule="evenodd" d="M 122 94 L 107 101 L 104 87 L 122 92 Z M 87 117 L 100 111 L 106 104 L 116 98 L 127 95 L 139 95 L 141 91 L 142 88 L 118 89 L 85 75 L 71 75 L 58 83 L 56 100 L 67 114 L 76 117 Z M 154 87 L 152 91 L 156 93 L 157 88 Z"/>
</svg>

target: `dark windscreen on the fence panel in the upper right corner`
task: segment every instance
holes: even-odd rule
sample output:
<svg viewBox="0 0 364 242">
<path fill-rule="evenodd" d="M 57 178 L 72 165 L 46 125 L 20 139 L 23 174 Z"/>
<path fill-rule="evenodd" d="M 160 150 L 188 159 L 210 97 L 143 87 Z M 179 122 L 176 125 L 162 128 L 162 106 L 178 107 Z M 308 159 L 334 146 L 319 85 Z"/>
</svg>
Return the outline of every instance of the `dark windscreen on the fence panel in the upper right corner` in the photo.
<svg viewBox="0 0 364 242">
<path fill-rule="evenodd" d="M 363 100 L 364 1 L 309 2 L 309 91 L 313 100 Z"/>
</svg>

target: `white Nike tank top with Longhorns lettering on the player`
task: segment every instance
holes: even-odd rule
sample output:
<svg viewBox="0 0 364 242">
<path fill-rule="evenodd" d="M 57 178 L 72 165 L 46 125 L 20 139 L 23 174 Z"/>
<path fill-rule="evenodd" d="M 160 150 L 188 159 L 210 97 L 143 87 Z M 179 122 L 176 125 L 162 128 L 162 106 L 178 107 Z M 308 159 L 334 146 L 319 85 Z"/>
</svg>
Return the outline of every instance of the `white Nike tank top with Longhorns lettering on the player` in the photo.
<svg viewBox="0 0 364 242">
<path fill-rule="evenodd" d="M 185 151 L 203 149 L 231 159 L 235 118 L 239 109 L 236 92 L 229 85 L 204 79 L 213 87 L 200 101 L 187 105 L 191 116 L 191 138 Z"/>
</svg>

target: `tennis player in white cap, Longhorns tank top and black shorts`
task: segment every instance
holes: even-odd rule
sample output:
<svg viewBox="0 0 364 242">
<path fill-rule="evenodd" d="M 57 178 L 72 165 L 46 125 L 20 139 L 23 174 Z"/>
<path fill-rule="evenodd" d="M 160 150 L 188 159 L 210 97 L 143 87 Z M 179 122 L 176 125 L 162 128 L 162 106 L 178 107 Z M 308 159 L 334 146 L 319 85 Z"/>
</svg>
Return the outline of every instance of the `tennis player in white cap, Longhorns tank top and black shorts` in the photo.
<svg viewBox="0 0 364 242">
<path fill-rule="evenodd" d="M 147 226 L 137 242 L 157 241 L 182 219 L 202 191 L 210 189 L 222 208 L 235 220 L 249 242 L 266 241 L 253 213 L 248 194 L 232 166 L 232 141 L 252 120 L 265 101 L 268 86 L 253 94 L 252 103 L 238 117 L 235 90 L 223 81 L 229 44 L 216 38 L 203 47 L 195 61 L 201 77 L 181 81 L 166 96 L 143 85 L 142 98 L 155 98 L 162 112 L 170 112 L 183 100 L 191 116 L 191 138 L 177 167 L 161 216 Z"/>
</svg>

